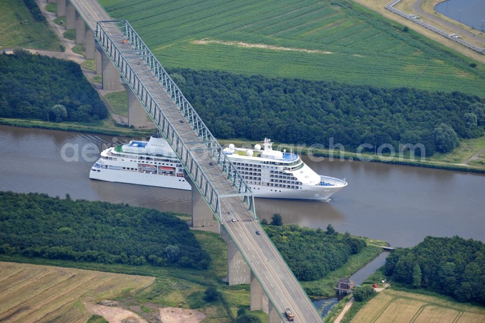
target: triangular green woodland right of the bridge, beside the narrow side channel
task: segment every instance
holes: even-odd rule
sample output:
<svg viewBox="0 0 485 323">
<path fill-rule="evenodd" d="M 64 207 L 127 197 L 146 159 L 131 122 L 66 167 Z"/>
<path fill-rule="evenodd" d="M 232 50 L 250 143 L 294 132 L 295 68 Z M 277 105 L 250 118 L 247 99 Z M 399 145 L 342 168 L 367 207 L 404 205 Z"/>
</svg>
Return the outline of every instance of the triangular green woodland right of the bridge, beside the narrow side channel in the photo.
<svg viewBox="0 0 485 323">
<path fill-rule="evenodd" d="M 301 281 L 317 280 L 341 267 L 352 254 L 358 254 L 366 242 L 349 233 L 339 235 L 331 226 L 327 230 L 298 225 L 265 225 L 271 238 L 295 277 Z"/>
</svg>

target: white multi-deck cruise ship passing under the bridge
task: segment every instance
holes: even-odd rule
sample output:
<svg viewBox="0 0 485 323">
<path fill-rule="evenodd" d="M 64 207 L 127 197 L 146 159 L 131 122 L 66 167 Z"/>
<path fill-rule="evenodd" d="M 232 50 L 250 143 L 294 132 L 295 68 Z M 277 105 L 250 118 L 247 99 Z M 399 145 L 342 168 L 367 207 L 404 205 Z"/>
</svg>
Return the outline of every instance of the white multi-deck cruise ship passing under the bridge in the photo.
<svg viewBox="0 0 485 323">
<path fill-rule="evenodd" d="M 347 186 L 345 180 L 317 174 L 300 156 L 273 150 L 271 139 L 254 149 L 236 148 L 224 153 L 239 170 L 255 197 L 328 200 Z M 190 190 L 184 170 L 168 142 L 154 135 L 148 141 L 132 140 L 108 148 L 89 173 L 92 179 Z"/>
</svg>

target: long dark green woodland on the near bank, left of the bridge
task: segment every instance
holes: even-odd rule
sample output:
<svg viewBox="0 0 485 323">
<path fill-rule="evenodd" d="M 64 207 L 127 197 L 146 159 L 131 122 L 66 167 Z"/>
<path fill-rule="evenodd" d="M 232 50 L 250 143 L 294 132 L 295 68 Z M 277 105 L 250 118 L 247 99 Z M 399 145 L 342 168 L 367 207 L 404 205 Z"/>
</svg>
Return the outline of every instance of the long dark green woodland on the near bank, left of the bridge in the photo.
<svg viewBox="0 0 485 323">
<path fill-rule="evenodd" d="M 0 192 L 0 253 L 207 269 L 210 255 L 169 212 Z"/>
</svg>

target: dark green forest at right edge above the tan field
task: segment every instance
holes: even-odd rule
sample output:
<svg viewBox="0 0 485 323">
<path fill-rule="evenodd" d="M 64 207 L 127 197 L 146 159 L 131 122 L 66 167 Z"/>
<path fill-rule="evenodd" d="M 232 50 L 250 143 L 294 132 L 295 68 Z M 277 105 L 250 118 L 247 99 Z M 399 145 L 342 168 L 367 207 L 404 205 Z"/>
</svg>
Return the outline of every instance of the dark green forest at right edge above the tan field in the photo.
<svg viewBox="0 0 485 323">
<path fill-rule="evenodd" d="M 426 237 L 413 248 L 395 249 L 384 271 L 399 283 L 485 305 L 485 244 L 460 237 Z"/>
</svg>

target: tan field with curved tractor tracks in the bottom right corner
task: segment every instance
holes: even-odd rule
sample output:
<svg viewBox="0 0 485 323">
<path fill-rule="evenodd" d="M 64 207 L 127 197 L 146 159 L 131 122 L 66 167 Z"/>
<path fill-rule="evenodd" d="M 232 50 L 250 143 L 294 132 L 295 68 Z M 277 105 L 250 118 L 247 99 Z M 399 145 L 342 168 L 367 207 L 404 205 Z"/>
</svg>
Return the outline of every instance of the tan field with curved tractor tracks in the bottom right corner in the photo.
<svg viewBox="0 0 485 323">
<path fill-rule="evenodd" d="M 483 323 L 485 308 L 404 291 L 386 289 L 351 323 Z"/>
</svg>

